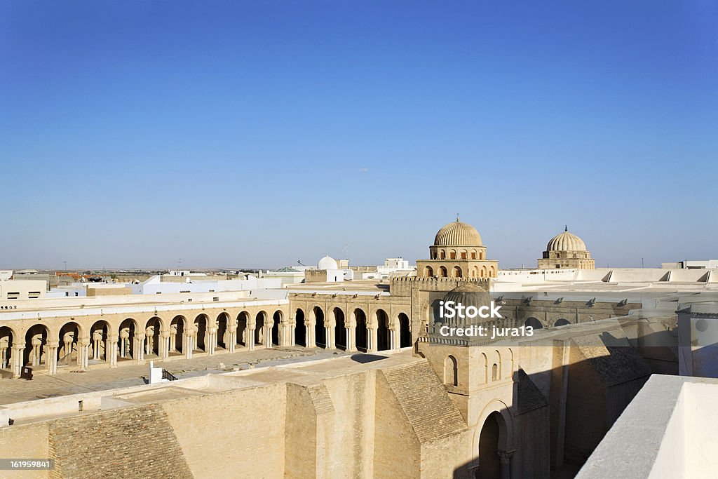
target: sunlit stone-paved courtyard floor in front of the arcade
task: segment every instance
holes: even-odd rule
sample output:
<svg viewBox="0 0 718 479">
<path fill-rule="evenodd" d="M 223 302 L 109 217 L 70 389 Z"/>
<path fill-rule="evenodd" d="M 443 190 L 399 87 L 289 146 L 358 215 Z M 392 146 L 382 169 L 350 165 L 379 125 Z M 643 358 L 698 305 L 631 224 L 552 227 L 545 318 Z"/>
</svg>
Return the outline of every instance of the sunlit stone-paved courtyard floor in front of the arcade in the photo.
<svg viewBox="0 0 718 479">
<path fill-rule="evenodd" d="M 202 355 L 192 359 L 172 359 L 155 361 L 177 378 L 204 376 L 208 373 L 225 373 L 238 369 L 279 366 L 299 361 L 314 361 L 322 358 L 346 355 L 343 351 L 323 350 L 320 348 L 281 347 L 243 350 L 236 353 Z M 224 365 L 222 368 L 221 365 Z M 4 379 L 0 381 L 0 405 L 12 404 L 33 399 L 67 396 L 88 391 L 106 391 L 146 383 L 149 376 L 149 361 L 146 364 L 123 365 L 118 368 L 97 368 L 85 372 L 61 371 L 54 376 L 37 374 L 32 381 L 24 379 Z"/>
</svg>

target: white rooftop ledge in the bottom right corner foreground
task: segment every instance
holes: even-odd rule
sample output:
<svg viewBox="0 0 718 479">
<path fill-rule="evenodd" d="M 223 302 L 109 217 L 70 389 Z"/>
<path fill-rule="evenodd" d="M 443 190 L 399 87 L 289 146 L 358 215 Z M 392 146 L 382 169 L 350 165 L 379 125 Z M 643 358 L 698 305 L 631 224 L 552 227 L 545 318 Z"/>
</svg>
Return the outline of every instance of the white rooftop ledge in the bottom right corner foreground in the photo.
<svg viewBox="0 0 718 479">
<path fill-rule="evenodd" d="M 717 404 L 718 379 L 653 374 L 577 479 L 715 477 Z"/>
</svg>

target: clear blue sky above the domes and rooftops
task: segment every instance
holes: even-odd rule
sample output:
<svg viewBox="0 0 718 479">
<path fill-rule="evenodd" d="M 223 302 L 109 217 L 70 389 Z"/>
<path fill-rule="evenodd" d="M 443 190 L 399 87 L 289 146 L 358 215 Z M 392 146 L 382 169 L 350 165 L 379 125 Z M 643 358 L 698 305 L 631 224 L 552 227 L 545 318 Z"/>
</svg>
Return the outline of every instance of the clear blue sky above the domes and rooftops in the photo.
<svg viewBox="0 0 718 479">
<path fill-rule="evenodd" d="M 718 257 L 718 3 L 0 1 L 0 267 Z"/>
</svg>

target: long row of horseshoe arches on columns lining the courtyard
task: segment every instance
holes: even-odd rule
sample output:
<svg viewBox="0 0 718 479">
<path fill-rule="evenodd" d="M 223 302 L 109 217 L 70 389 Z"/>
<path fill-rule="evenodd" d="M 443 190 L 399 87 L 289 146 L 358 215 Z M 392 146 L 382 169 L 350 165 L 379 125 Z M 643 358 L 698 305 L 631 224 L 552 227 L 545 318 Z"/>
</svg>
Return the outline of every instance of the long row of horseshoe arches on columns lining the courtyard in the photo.
<svg viewBox="0 0 718 479">
<path fill-rule="evenodd" d="M 174 356 L 192 358 L 238 348 L 302 345 L 347 351 L 393 350 L 411 346 L 409 315 L 389 316 L 381 308 L 317 305 L 292 315 L 286 304 L 243 310 L 174 310 L 157 314 L 102 317 L 47 317 L 0 323 L 0 371 L 19 377 L 23 366 L 55 374 Z"/>
</svg>

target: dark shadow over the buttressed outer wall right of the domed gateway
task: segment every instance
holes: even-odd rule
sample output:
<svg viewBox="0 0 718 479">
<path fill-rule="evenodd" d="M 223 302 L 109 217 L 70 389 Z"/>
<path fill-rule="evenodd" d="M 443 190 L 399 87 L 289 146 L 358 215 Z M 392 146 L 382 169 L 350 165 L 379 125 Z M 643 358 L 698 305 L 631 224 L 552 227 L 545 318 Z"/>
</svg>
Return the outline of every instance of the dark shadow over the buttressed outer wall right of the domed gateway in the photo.
<svg viewBox="0 0 718 479">
<path fill-rule="evenodd" d="M 453 477 L 573 478 L 648 377 L 679 372 L 671 331 L 635 338 L 631 327 L 624 325 L 627 338 L 615 331 L 577 334 L 563 366 L 528 374 L 519 364 L 512 405 L 475 426 L 474 458 Z M 548 348 L 556 365 L 564 348 Z"/>
</svg>

